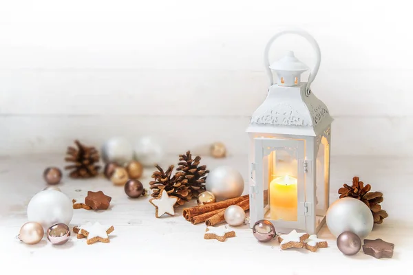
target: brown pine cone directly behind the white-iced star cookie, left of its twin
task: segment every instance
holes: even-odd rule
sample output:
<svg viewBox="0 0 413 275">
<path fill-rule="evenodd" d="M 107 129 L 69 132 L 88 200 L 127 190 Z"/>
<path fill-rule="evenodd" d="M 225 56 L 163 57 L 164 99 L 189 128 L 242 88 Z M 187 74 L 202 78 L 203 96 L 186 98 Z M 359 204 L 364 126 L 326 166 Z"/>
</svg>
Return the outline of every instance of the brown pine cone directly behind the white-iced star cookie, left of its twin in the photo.
<svg viewBox="0 0 413 275">
<path fill-rule="evenodd" d="M 152 174 L 152 178 L 155 180 L 149 182 L 152 197 L 158 198 L 162 190 L 165 189 L 168 195 L 178 197 L 175 206 L 182 206 L 192 199 L 191 189 L 180 181 L 183 177 L 182 172 L 178 172 L 171 177 L 173 165 L 169 166 L 166 172 L 159 165 L 156 165 L 156 168 L 159 171 L 155 171 Z"/>
</svg>

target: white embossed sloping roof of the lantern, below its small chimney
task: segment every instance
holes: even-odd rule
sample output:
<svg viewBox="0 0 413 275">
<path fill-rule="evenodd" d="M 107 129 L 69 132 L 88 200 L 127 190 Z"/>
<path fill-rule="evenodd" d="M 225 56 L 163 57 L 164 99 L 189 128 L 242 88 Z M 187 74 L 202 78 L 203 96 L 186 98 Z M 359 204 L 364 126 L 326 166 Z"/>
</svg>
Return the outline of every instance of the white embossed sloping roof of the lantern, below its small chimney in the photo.
<svg viewBox="0 0 413 275">
<path fill-rule="evenodd" d="M 306 92 L 306 83 L 296 87 L 272 85 L 266 100 L 253 113 L 246 131 L 316 136 L 331 122 L 326 104 L 313 93 Z"/>
</svg>

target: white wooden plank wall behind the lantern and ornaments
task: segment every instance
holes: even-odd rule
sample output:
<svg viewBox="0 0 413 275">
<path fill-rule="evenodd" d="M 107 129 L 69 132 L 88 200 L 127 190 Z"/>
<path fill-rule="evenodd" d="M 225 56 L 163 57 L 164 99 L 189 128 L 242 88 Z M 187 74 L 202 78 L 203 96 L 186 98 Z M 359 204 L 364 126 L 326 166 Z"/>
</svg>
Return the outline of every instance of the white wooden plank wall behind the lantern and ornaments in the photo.
<svg viewBox="0 0 413 275">
<path fill-rule="evenodd" d="M 266 96 L 266 42 L 294 26 L 317 39 L 314 93 L 335 118 L 332 155 L 413 155 L 408 1 L 1 1 L 0 155 L 61 153 L 153 135 L 167 153 L 244 129 Z M 313 65 L 295 36 L 279 39 Z"/>
</svg>

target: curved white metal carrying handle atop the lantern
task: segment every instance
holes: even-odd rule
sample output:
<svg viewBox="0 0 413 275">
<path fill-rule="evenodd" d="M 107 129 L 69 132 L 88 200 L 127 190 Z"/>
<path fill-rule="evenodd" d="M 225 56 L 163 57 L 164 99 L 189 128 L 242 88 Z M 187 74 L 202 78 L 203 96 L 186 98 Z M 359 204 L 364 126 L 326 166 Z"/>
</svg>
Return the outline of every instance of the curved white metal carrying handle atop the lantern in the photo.
<svg viewBox="0 0 413 275">
<path fill-rule="evenodd" d="M 264 51 L 264 64 L 265 64 L 265 69 L 266 72 L 268 74 L 268 78 L 270 78 L 270 86 L 274 84 L 274 78 L 273 78 L 273 73 L 271 72 L 270 69 L 270 61 L 269 61 L 269 52 L 270 52 L 270 48 L 271 45 L 273 45 L 273 42 L 275 41 L 275 39 L 279 38 L 279 36 L 282 36 L 284 34 L 297 34 L 299 36 L 304 37 L 308 43 L 310 43 L 311 46 L 313 46 L 313 50 L 315 52 L 315 65 L 313 67 L 313 69 L 310 72 L 310 75 L 308 76 L 308 81 L 307 81 L 307 85 L 306 85 L 306 95 L 310 94 L 310 85 L 311 83 L 313 83 L 313 80 L 315 78 L 315 76 L 317 76 L 317 72 L 319 70 L 320 67 L 320 62 L 321 62 L 321 52 L 320 52 L 320 47 L 317 43 L 317 41 L 315 41 L 315 39 L 313 38 L 313 36 L 311 36 L 308 32 L 306 32 L 305 30 L 301 30 L 301 29 L 286 29 L 286 30 L 281 30 L 280 32 L 278 32 L 277 34 L 275 34 L 270 41 L 268 41 L 266 47 L 265 47 L 265 51 Z"/>
</svg>

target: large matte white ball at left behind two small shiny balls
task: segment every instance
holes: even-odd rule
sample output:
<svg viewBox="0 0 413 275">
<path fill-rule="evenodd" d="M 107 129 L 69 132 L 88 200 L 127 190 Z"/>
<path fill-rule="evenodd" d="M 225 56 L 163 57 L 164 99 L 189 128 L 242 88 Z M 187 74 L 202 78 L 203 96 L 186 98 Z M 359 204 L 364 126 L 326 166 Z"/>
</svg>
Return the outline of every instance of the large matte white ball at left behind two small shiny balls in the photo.
<svg viewBox="0 0 413 275">
<path fill-rule="evenodd" d="M 28 220 L 40 223 L 45 232 L 56 223 L 68 225 L 72 217 L 72 201 L 63 192 L 57 190 L 38 192 L 28 205 Z"/>
</svg>

